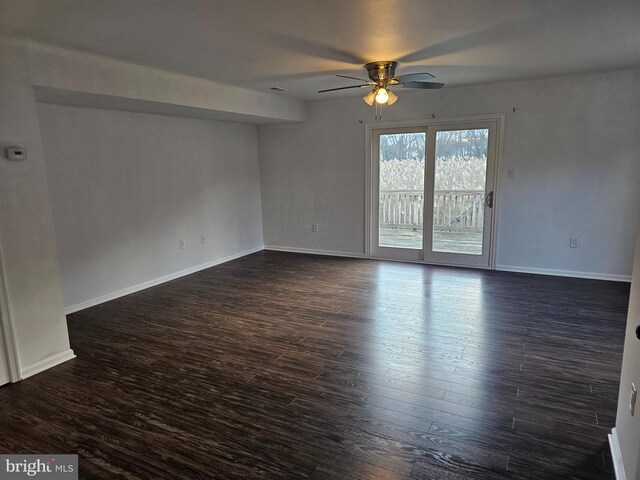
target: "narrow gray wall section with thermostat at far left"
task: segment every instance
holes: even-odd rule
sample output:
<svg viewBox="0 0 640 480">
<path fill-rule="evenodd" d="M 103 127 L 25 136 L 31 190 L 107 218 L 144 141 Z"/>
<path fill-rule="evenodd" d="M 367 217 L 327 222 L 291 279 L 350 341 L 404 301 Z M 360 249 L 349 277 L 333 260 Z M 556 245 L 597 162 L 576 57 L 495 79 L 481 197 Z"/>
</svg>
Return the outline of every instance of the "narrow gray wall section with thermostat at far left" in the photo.
<svg viewBox="0 0 640 480">
<path fill-rule="evenodd" d="M 9 145 L 27 149 L 26 160 L 0 158 L 0 316 L 3 336 L 15 339 L 15 349 L 7 350 L 15 352 L 10 361 L 17 380 L 73 358 L 73 352 L 26 52 L 0 38 L 0 148 Z"/>
</svg>

